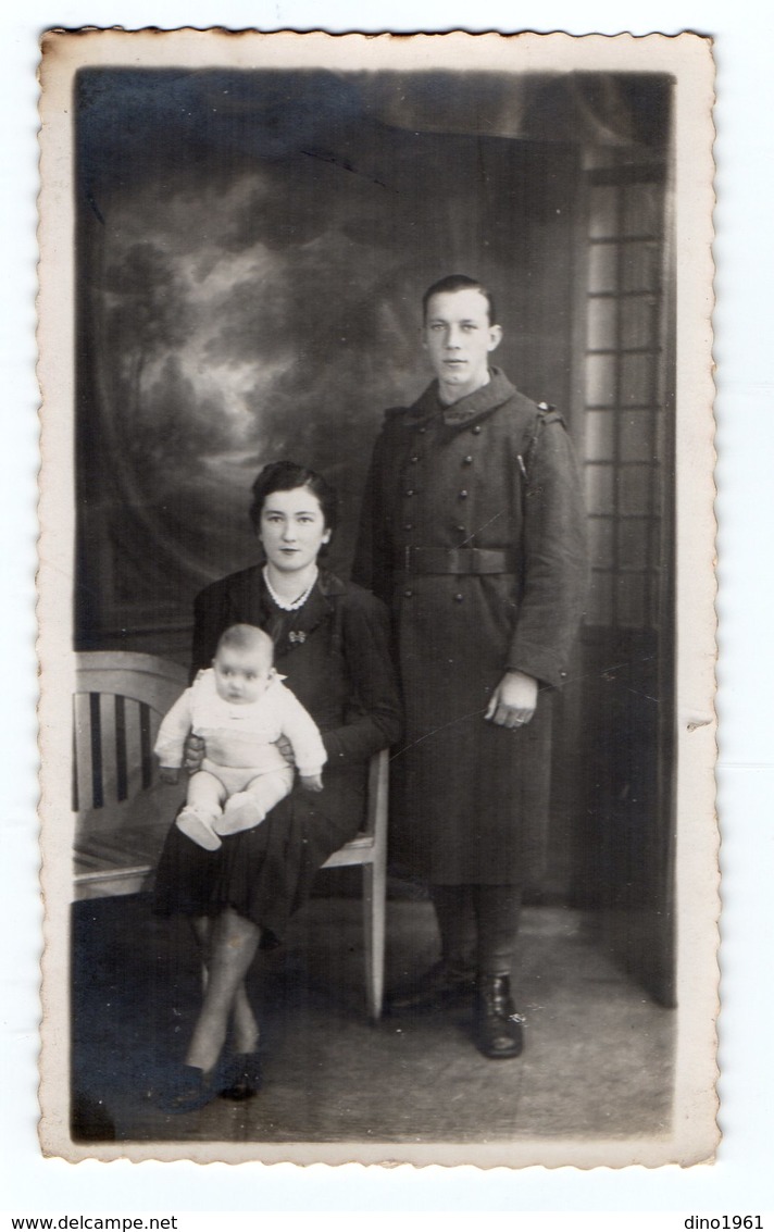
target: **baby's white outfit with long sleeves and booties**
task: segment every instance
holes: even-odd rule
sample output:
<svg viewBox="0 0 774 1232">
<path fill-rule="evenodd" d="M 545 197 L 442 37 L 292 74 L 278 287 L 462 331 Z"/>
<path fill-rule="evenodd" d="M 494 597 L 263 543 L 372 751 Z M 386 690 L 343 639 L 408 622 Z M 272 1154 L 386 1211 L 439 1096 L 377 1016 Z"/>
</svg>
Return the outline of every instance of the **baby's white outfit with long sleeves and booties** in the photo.
<svg viewBox="0 0 774 1232">
<path fill-rule="evenodd" d="M 274 669 L 258 701 L 243 705 L 218 696 L 212 668 L 200 671 L 161 721 L 154 753 L 163 766 L 182 765 L 189 733 L 203 738 L 206 755 L 176 825 L 210 851 L 219 834 L 258 825 L 290 793 L 293 768 L 276 747 L 281 736 L 301 775 L 318 775 L 327 760 L 317 723 Z"/>
</svg>

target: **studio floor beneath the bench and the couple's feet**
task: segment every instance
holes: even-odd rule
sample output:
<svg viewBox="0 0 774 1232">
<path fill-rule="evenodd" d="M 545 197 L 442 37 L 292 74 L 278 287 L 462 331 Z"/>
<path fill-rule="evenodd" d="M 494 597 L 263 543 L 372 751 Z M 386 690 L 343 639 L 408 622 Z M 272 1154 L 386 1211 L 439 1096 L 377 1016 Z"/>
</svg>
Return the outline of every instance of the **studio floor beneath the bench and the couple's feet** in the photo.
<svg viewBox="0 0 774 1232">
<path fill-rule="evenodd" d="M 497 1143 L 668 1135 L 674 1011 L 614 962 L 594 918 L 524 912 L 518 1008 L 523 1056 L 487 1061 L 470 1013 L 365 1010 L 356 898 L 313 898 L 286 945 L 250 977 L 265 1083 L 242 1104 L 216 1099 L 169 1116 L 154 1094 L 181 1061 L 200 971 L 185 922 L 145 894 L 81 902 L 73 926 L 73 1137 L 81 1142 Z M 431 906 L 388 903 L 387 987 L 436 957 Z M 256 1152 L 258 1157 L 258 1152 Z"/>
</svg>

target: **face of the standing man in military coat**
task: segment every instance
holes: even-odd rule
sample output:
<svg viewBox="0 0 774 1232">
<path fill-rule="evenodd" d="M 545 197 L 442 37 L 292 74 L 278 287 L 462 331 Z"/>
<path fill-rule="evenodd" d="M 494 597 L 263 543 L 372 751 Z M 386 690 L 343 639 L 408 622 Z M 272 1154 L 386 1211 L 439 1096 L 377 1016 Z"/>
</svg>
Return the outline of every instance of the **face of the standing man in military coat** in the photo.
<svg viewBox="0 0 774 1232">
<path fill-rule="evenodd" d="M 489 379 L 489 355 L 503 331 L 489 323 L 489 306 L 481 291 L 466 287 L 433 296 L 423 344 L 447 399 L 475 393 Z"/>
</svg>

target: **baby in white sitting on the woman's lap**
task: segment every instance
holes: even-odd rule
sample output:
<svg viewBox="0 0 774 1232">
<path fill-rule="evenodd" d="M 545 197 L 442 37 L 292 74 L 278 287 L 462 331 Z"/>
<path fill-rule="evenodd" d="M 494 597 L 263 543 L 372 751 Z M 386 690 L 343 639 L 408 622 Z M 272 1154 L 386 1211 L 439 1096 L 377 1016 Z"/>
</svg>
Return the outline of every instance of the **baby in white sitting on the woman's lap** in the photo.
<svg viewBox="0 0 774 1232">
<path fill-rule="evenodd" d="M 177 782 L 189 733 L 205 740 L 201 769 L 191 775 L 175 824 L 207 851 L 221 835 L 249 830 L 293 786 L 293 768 L 276 740 L 293 750 L 301 784 L 322 791 L 325 749 L 317 724 L 272 667 L 274 644 L 253 625 L 232 625 L 212 668 L 200 671 L 159 728 L 154 747 L 160 777 Z"/>
</svg>

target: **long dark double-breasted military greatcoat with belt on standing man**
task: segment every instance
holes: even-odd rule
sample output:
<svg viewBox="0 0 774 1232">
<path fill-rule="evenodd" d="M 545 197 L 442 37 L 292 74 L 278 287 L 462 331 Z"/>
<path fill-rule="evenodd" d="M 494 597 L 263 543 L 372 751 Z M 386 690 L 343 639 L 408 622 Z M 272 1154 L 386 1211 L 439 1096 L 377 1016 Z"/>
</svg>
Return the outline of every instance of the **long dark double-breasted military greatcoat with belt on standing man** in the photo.
<svg viewBox="0 0 774 1232">
<path fill-rule="evenodd" d="M 585 514 L 558 414 L 499 370 L 444 408 L 434 382 L 387 411 L 355 580 L 391 607 L 405 705 L 393 758 L 393 859 L 439 885 L 540 872 L 551 692 L 585 590 Z M 503 674 L 537 679 L 534 719 L 484 721 Z"/>
</svg>

